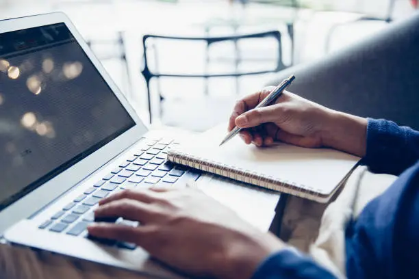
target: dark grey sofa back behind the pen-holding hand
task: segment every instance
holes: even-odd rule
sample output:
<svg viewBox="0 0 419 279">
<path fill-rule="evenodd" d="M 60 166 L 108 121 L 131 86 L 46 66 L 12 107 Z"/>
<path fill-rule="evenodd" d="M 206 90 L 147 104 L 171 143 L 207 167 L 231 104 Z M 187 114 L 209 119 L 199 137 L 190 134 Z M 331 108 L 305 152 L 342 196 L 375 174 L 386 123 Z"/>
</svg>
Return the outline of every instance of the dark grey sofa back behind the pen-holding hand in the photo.
<svg viewBox="0 0 419 279">
<path fill-rule="evenodd" d="M 283 70 L 270 85 L 290 74 L 296 79 L 289 90 L 309 100 L 419 130 L 419 13 L 325 59 Z"/>
</svg>

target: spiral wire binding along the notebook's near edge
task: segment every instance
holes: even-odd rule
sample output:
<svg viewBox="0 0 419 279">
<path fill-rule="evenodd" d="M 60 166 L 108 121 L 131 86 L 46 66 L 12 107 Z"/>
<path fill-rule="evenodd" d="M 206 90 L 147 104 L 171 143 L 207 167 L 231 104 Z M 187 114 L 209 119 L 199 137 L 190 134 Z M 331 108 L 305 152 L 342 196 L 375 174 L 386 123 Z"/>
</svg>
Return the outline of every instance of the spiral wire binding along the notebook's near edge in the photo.
<svg viewBox="0 0 419 279">
<path fill-rule="evenodd" d="M 216 161 L 204 161 L 201 157 L 192 157 L 191 155 L 177 150 L 170 150 L 170 152 L 168 152 L 167 159 L 173 163 L 188 165 L 190 168 L 203 170 L 204 172 L 211 172 L 220 176 L 226 176 L 236 181 L 242 181 L 244 183 L 257 185 L 274 191 L 281 191 L 285 194 L 291 194 L 301 198 L 311 197 L 312 199 L 322 200 L 316 191 L 306 187 L 305 185 L 298 185 L 290 181 L 280 181 L 272 176 L 266 177 L 257 172 L 234 168 L 231 165 L 226 165 Z"/>
</svg>

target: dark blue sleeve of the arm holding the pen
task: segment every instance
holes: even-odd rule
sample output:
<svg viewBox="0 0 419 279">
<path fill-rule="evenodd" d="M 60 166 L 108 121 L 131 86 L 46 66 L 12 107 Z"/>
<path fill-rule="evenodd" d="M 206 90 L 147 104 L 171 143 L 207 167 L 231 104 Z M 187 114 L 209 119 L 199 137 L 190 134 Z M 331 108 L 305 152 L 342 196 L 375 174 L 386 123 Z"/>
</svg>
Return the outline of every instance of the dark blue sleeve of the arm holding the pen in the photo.
<svg viewBox="0 0 419 279">
<path fill-rule="evenodd" d="M 399 175 L 419 159 L 419 132 L 388 120 L 368 118 L 366 156 L 372 172 Z"/>
</svg>

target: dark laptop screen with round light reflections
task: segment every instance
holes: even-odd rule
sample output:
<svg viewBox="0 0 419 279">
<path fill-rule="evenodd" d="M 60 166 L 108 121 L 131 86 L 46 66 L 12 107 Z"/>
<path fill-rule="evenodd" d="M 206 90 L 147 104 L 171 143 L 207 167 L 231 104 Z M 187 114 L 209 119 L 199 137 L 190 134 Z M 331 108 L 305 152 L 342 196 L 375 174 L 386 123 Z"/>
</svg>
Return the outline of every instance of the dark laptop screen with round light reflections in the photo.
<svg viewBox="0 0 419 279">
<path fill-rule="evenodd" d="M 64 23 L 0 34 L 0 210 L 134 125 Z"/>
</svg>

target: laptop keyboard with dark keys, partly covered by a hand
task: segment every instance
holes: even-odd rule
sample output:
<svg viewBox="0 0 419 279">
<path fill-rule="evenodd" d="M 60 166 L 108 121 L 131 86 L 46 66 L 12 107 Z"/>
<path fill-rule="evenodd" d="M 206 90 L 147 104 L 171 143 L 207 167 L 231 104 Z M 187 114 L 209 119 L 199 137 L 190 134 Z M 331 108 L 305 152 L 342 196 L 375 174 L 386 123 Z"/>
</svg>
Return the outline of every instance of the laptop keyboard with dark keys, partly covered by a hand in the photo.
<svg viewBox="0 0 419 279">
<path fill-rule="evenodd" d="M 177 143 L 172 139 L 150 140 L 144 143 L 140 150 L 136 150 L 124 161 L 120 161 L 117 168 L 86 189 L 84 194 L 75 198 L 49 220 L 42 222 L 38 228 L 74 237 L 87 237 L 101 244 L 134 250 L 136 245 L 132 243 L 116 243 L 116 241 L 92 238 L 87 234 L 86 228 L 90 222 L 94 221 L 116 222 L 127 226 L 137 226 L 138 222 L 123 220 L 123 218 L 94 220 L 92 208 L 102 198 L 123 189 L 150 187 L 155 183 L 175 185 L 185 174 L 188 178 L 198 179 L 201 172 L 188 170 L 181 165 L 173 165 L 166 161 L 167 150 L 174 144 Z"/>
</svg>

